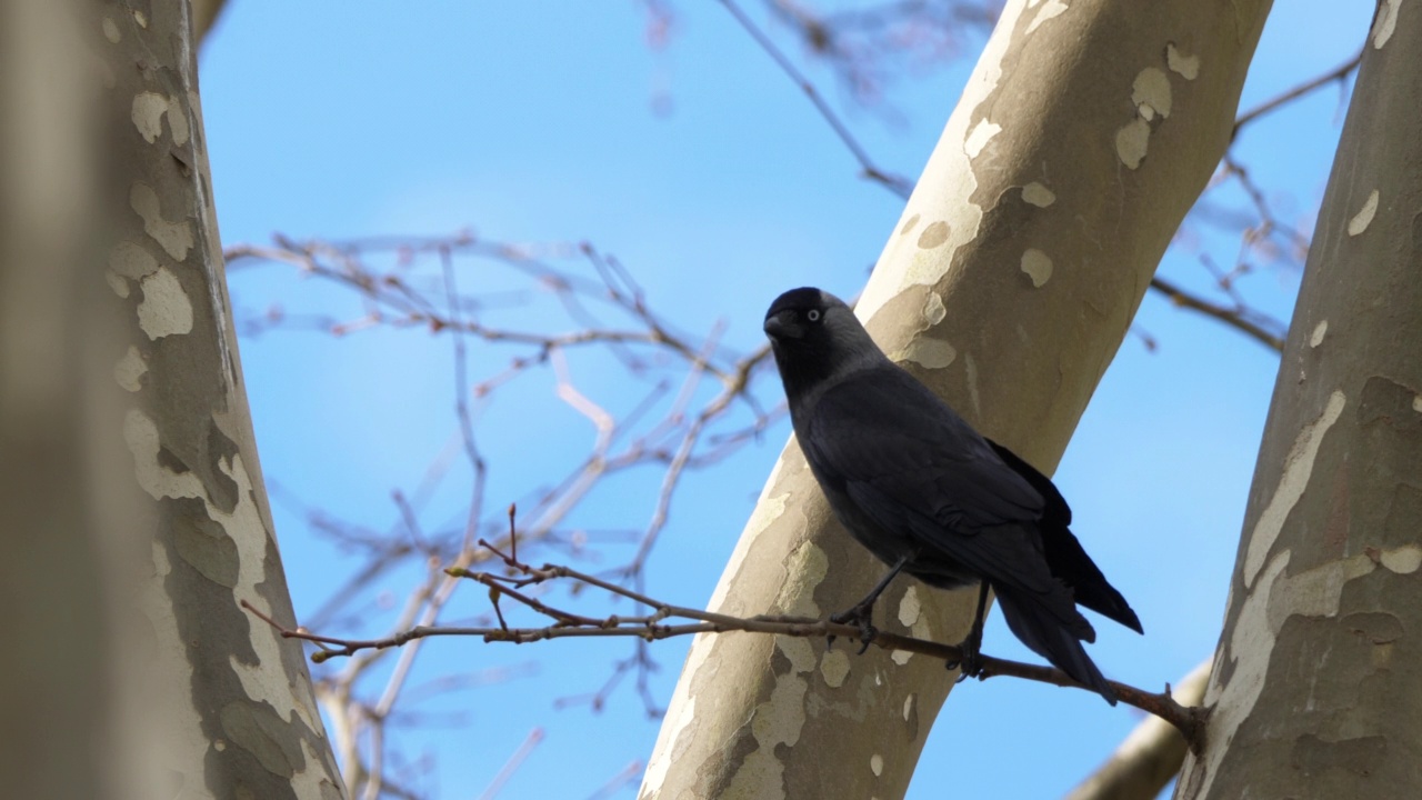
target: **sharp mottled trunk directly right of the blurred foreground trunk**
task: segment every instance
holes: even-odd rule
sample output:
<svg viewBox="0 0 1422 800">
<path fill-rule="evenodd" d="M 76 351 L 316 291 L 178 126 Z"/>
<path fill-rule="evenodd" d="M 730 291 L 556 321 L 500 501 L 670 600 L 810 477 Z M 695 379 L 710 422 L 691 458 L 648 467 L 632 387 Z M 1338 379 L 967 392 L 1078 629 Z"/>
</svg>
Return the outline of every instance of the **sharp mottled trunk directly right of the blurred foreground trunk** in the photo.
<svg viewBox="0 0 1422 800">
<path fill-rule="evenodd" d="M 232 329 L 186 1 L 97 14 L 111 88 L 104 262 L 124 315 L 108 374 L 128 485 L 152 510 L 129 717 L 183 797 L 343 794 L 294 625 Z"/>
</svg>

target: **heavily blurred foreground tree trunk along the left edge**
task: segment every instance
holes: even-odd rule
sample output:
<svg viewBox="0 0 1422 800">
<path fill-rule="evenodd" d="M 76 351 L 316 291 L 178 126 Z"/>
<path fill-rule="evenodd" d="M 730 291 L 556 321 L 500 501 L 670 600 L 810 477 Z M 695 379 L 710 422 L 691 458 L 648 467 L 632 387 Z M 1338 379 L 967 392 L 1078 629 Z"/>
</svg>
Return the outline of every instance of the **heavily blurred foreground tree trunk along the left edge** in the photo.
<svg viewBox="0 0 1422 800">
<path fill-rule="evenodd" d="M 0 780 L 7 797 L 114 797 L 85 344 L 104 296 L 81 3 L 0 3 Z M 95 733 L 100 733 L 95 736 Z M 108 789 L 105 789 L 108 787 Z"/>
</svg>

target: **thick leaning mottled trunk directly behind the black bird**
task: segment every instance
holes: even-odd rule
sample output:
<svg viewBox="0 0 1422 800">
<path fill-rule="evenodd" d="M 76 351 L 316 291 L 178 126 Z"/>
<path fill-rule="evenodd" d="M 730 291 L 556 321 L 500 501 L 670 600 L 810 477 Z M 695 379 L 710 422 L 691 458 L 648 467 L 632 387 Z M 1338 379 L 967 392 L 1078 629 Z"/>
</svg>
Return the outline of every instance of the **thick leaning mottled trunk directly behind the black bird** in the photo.
<svg viewBox="0 0 1422 800">
<path fill-rule="evenodd" d="M 1049 473 L 1224 152 L 1267 9 L 1008 3 L 859 302 L 883 349 Z M 710 606 L 823 615 L 882 571 L 791 443 Z M 973 602 L 897 581 L 877 623 L 957 642 Z M 640 796 L 902 797 L 951 686 L 909 653 L 701 636 Z"/>
</svg>

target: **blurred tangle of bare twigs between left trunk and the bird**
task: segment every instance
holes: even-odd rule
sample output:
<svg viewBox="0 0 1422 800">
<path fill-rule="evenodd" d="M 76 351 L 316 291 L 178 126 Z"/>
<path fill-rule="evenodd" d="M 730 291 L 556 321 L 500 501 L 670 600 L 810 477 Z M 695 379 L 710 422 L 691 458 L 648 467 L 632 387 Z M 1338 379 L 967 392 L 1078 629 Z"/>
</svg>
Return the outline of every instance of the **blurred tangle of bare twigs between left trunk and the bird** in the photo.
<svg viewBox="0 0 1422 800">
<path fill-rule="evenodd" d="M 350 292 L 358 303 L 358 315 L 344 319 L 327 313 L 287 313 L 282 306 L 256 316 L 237 315 L 239 326 L 249 335 L 314 329 L 346 336 L 385 327 L 428 330 L 451 342 L 455 430 L 412 491 L 391 493 L 395 521 L 390 528 L 347 522 L 304 507 L 289 493 L 277 493 L 283 504 L 294 505 L 320 535 L 360 558 L 344 585 L 311 615 L 311 625 L 324 628 L 336 621 L 367 625 L 373 612 L 391 601 L 383 595 L 375 604 L 356 605 L 358 599 L 395 569 L 415 565 L 424 578 L 410 589 L 394 615 L 392 629 L 438 629 L 456 589 L 466 585 L 441 565 L 469 569 L 486 562 L 491 551 L 475 544 L 482 541 L 481 535 L 495 537 L 495 547 L 508 548 L 515 559 L 526 558 L 523 551 L 530 548 L 587 557 L 590 537 L 606 535 L 566 531 L 570 515 L 603 478 L 656 470 L 660 480 L 650 518 L 638 530 L 624 531 L 623 541 L 634 544 L 634 549 L 627 562 L 606 571 L 609 581 L 640 588 L 647 557 L 671 517 L 685 474 L 725 458 L 784 414 L 781 406 L 762 409 L 751 391 L 754 376 L 768 362 L 768 346 L 761 344 L 749 353 L 734 352 L 722 344 L 724 326 L 720 323 L 704 337 L 677 330 L 653 312 L 641 286 L 616 258 L 586 243 L 515 245 L 472 233 L 338 243 L 277 236 L 267 246 L 229 248 L 228 259 L 230 272 L 239 276 L 257 263 L 290 265 L 301 276 Z M 502 268 L 502 273 L 491 268 Z M 549 300 L 552 310 L 567 320 L 566 326 L 559 327 L 559 322 L 550 323 L 547 315 L 540 313 L 549 310 Z M 508 356 L 505 366 L 499 363 L 499 353 Z M 626 396 L 631 389 L 636 397 L 640 386 L 640 400 L 631 407 L 613 407 L 594 397 L 577 386 L 574 359 L 600 359 L 593 363 L 603 381 L 609 377 L 606 359 L 610 359 L 613 370 L 619 366 L 626 370 L 627 380 L 619 381 L 619 391 Z M 475 367 L 482 372 L 475 374 Z M 576 460 L 560 481 L 520 498 L 529 508 L 523 528 L 515 530 L 510 508 L 506 530 L 499 532 L 505 527 L 503 514 L 491 514 L 483 502 L 491 454 L 479 443 L 479 417 L 513 381 L 538 369 L 552 373 L 556 401 L 586 419 L 594 436 L 589 453 Z M 557 456 L 566 458 L 567 450 L 559 448 Z M 461 488 L 465 497 L 461 518 L 431 527 L 422 515 L 437 487 L 464 475 L 469 483 Z M 523 599 L 552 608 L 532 595 Z M 488 614 L 461 622 L 493 625 L 495 619 L 505 626 L 496 602 Z M 392 780 L 392 753 L 387 752 L 397 739 L 388 735 L 391 722 L 418 719 L 398 717 L 397 706 L 429 693 L 425 685 L 418 688 L 422 695 L 410 698 L 410 676 L 421 646 L 414 639 L 407 641 L 410 646 L 400 651 L 354 653 L 341 669 L 319 675 L 317 696 L 331 720 L 333 740 L 354 797 L 415 796 L 414 789 Z M 392 665 L 385 663 L 387 653 L 398 653 Z M 616 663 L 599 692 L 567 702 L 587 700 L 600 709 L 627 675 L 636 675 L 637 693 L 653 713 L 657 703 L 648 675 L 656 668 L 647 643 L 637 641 L 634 652 Z M 502 673 L 505 679 L 515 675 L 512 670 Z M 469 685 L 474 683 L 444 682 L 438 690 Z M 496 784 L 491 787 L 496 789 Z"/>
</svg>

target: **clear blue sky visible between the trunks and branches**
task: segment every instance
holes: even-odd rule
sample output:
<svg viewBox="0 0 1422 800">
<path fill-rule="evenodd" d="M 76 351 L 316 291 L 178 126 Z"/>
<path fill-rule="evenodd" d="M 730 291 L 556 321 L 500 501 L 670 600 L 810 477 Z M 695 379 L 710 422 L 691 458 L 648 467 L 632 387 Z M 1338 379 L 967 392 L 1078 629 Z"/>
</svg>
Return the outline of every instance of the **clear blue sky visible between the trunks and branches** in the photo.
<svg viewBox="0 0 1422 800">
<path fill-rule="evenodd" d="M 786 288 L 816 283 L 853 295 L 902 201 L 856 178 L 849 152 L 720 6 L 671 9 L 673 37 L 653 48 L 643 6 L 631 1 L 232 0 L 202 56 L 223 242 L 266 242 L 273 232 L 341 239 L 464 228 L 512 242 L 590 241 L 616 253 L 680 329 L 704 335 L 724 320 L 727 344 L 741 350 L 759 343 L 761 315 Z M 1280 4 L 1241 104 L 1347 60 L 1368 16 L 1364 4 Z M 779 41 L 803 63 L 798 44 Z M 968 51 L 893 83 L 887 98 L 897 121 L 850 102 L 823 68 L 806 71 L 880 167 L 912 178 L 973 60 Z M 1325 90 L 1241 140 L 1243 157 L 1280 214 L 1305 229 L 1341 112 L 1337 88 Z M 1240 204 L 1237 192 L 1220 199 Z M 1237 236 L 1204 231 L 1199 248 L 1230 263 Z M 461 269 L 469 280 L 486 276 L 479 265 Z M 1162 275 L 1196 289 L 1209 285 L 1185 249 L 1166 256 Z M 1253 303 L 1283 319 L 1295 288 L 1291 268 L 1244 282 Z M 347 292 L 287 268 L 236 270 L 232 289 L 245 315 L 272 305 L 360 313 Z M 545 312 L 529 315 L 529 325 L 557 325 Z M 1136 322 L 1159 347 L 1125 342 L 1057 481 L 1078 534 L 1148 633 L 1142 639 L 1103 625 L 1092 655 L 1112 678 L 1153 688 L 1179 679 L 1214 648 L 1277 359 L 1155 298 Z M 503 357 L 475 349 L 471 369 L 488 374 Z M 378 531 L 397 524 L 391 491 L 412 491 L 456 431 L 451 340 L 424 330 L 346 337 L 277 330 L 245 337 L 242 359 L 263 471 L 280 487 L 277 531 L 304 616 L 354 562 L 314 535 L 300 508 Z M 627 404 L 606 366 L 589 357 L 570 369 L 589 396 Z M 762 397 L 774 403 L 778 391 L 774 379 L 762 379 Z M 552 397 L 546 373 L 491 404 L 479 430 L 493 464 L 493 507 L 556 480 L 586 454 L 593 434 Z M 758 446 L 688 478 L 650 562 L 651 594 L 704 605 L 786 436 L 782 423 Z M 654 475 L 620 477 L 574 522 L 641 527 L 654 491 Z M 462 500 L 458 485 L 441 490 L 421 524 L 456 524 Z M 602 558 L 616 564 L 626 552 L 611 542 Z M 388 623 L 414 578 L 412 569 L 391 575 L 357 604 L 367 625 L 361 633 Z M 464 589 L 451 616 L 483 611 L 483 598 Z M 663 703 L 685 646 L 656 646 L 663 670 L 651 692 Z M 593 794 L 629 763 L 646 760 L 657 722 L 630 686 L 600 713 L 586 705 L 556 707 L 555 699 L 596 690 L 629 649 L 617 642 L 432 642 L 418 662 L 419 679 L 535 666 L 508 683 L 419 706 L 431 725 L 407 732 L 404 744 L 407 754 L 429 759 L 415 783 L 437 797 L 478 796 L 523 737 L 542 727 L 545 739 L 501 796 Z M 987 651 L 1027 658 L 995 618 Z M 940 797 L 948 787 L 984 797 L 1059 794 L 1139 719 L 1086 693 L 1015 680 L 963 686 L 950 703 L 946 722 L 971 720 L 971 727 L 934 730 L 910 797 Z M 634 789 L 636 781 L 619 796 Z"/>
</svg>

